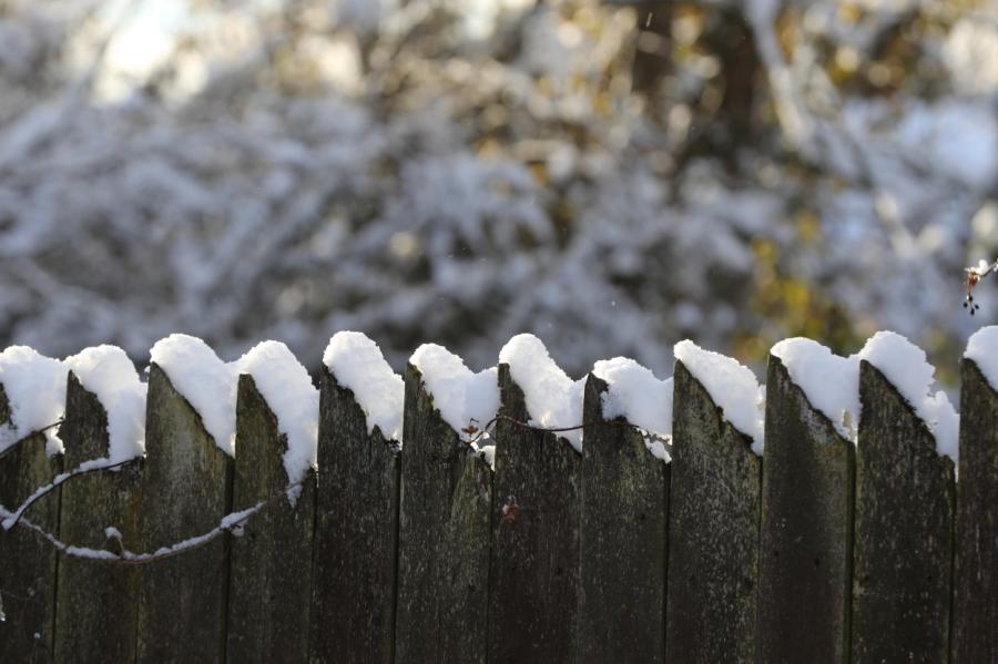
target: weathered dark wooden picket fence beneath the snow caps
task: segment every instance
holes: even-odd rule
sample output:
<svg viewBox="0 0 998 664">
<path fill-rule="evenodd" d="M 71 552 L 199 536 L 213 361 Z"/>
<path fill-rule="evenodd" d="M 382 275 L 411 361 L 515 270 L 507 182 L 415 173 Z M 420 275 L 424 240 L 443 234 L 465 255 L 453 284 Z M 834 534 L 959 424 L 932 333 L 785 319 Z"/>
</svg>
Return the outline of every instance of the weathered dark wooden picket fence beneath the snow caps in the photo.
<svg viewBox="0 0 998 664">
<path fill-rule="evenodd" d="M 998 395 L 970 360 L 963 380 L 957 483 L 866 362 L 854 445 L 771 358 L 764 457 L 676 362 L 670 464 L 598 423 L 593 376 L 583 453 L 518 426 L 500 366 L 495 470 L 411 366 L 401 451 L 326 372 L 317 478 L 240 537 L 132 565 L 0 534 L 0 662 L 998 662 Z M 106 413 L 72 374 L 61 438 L 64 458 L 41 436 L 0 458 L 0 503 L 106 453 Z M 279 496 L 285 446 L 248 376 L 233 461 L 153 366 L 145 459 L 27 518 L 110 551 L 113 524 L 155 551 Z"/>
</svg>

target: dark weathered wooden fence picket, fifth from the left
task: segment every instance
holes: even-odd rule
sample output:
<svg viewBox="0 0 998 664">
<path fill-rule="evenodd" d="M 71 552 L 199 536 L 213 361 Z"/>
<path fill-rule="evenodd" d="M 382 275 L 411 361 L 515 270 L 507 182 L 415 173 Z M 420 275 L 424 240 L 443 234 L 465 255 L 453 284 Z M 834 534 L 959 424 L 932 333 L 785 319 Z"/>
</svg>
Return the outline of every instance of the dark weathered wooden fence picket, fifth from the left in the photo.
<svg viewBox="0 0 998 664">
<path fill-rule="evenodd" d="M 394 661 L 399 453 L 324 370 L 309 660 Z"/>
</svg>

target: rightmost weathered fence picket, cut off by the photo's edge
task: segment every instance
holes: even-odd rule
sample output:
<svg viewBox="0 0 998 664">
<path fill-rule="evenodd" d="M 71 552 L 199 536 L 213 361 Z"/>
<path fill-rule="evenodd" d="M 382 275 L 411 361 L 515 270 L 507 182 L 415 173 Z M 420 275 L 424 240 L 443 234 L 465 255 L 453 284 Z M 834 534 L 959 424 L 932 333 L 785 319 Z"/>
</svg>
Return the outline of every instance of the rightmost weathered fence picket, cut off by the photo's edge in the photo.
<svg viewBox="0 0 998 664">
<path fill-rule="evenodd" d="M 998 394 L 960 366 L 954 664 L 998 664 Z"/>
</svg>

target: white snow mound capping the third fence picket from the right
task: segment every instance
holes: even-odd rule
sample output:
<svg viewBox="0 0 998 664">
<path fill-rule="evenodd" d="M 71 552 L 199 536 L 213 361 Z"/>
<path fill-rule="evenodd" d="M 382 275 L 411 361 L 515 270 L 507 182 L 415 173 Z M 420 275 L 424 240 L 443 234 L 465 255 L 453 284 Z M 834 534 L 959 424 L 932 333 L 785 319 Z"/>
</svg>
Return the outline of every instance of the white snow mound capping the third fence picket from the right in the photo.
<svg viewBox="0 0 998 664">
<path fill-rule="evenodd" d="M 841 357 L 804 337 L 784 339 L 770 353 L 780 358 L 791 380 L 804 390 L 811 405 L 823 412 L 846 440 L 856 440 L 859 425 L 859 362 Z"/>
</svg>

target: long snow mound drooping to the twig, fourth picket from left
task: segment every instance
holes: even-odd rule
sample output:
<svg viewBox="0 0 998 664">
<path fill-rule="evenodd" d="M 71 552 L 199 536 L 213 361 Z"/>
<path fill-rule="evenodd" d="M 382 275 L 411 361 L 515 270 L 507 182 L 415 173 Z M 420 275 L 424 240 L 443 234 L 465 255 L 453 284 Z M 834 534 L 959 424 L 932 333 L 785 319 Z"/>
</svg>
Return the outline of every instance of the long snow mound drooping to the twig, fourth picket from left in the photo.
<svg viewBox="0 0 998 664">
<path fill-rule="evenodd" d="M 248 374 L 267 406 L 277 417 L 277 428 L 287 438 L 284 470 L 291 484 L 317 467 L 318 390 L 298 358 L 281 341 L 263 341 L 236 360 Z"/>
</svg>

